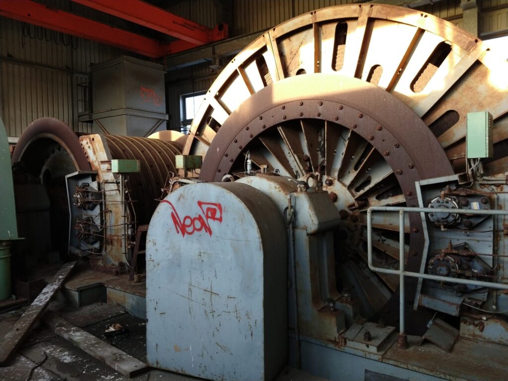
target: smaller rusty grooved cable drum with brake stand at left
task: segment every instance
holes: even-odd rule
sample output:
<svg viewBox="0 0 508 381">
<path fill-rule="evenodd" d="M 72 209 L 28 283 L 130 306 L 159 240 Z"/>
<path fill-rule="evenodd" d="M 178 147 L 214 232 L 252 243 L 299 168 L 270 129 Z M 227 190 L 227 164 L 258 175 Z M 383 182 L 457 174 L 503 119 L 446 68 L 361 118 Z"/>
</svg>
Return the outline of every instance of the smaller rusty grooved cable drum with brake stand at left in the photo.
<svg viewBox="0 0 508 381">
<path fill-rule="evenodd" d="M 17 245 L 24 266 L 75 255 L 94 269 L 129 271 L 138 228 L 148 224 L 168 173 L 176 172 L 182 145 L 170 135 L 175 140 L 78 137 L 53 118 L 31 123 L 12 156 L 19 227 L 27 237 Z"/>
</svg>

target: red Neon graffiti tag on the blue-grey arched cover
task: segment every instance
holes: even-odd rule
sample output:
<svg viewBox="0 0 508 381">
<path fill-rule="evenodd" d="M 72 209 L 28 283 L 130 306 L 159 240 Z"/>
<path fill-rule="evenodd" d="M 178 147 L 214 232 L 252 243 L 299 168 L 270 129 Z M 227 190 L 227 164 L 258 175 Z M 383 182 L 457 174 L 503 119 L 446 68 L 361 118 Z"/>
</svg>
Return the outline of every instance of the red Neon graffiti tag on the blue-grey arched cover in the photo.
<svg viewBox="0 0 508 381">
<path fill-rule="evenodd" d="M 162 203 L 168 204 L 172 209 L 171 219 L 175 225 L 176 232 L 180 233 L 182 237 L 185 237 L 185 234 L 193 235 L 195 232 L 201 232 L 202 230 L 208 233 L 211 237 L 212 228 L 210 227 L 209 221 L 222 223 L 222 205 L 220 204 L 198 201 L 198 206 L 201 209 L 202 214 L 198 214 L 196 217 L 186 215 L 182 220 L 171 202 L 162 200 Z"/>
</svg>

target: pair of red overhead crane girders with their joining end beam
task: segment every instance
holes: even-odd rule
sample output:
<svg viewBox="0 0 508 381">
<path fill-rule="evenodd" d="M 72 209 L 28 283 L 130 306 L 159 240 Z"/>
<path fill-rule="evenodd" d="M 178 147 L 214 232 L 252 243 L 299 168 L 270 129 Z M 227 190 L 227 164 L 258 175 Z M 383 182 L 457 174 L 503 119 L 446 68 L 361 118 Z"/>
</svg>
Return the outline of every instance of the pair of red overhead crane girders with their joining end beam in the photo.
<svg viewBox="0 0 508 381">
<path fill-rule="evenodd" d="M 139 0 L 105 2 L 76 0 L 77 3 L 128 21 L 161 31 L 180 40 L 163 43 L 111 25 L 94 21 L 31 0 L 0 0 L 0 15 L 73 36 L 116 46 L 150 58 L 163 57 L 218 41 L 228 36 L 226 24 L 211 29 Z"/>
</svg>

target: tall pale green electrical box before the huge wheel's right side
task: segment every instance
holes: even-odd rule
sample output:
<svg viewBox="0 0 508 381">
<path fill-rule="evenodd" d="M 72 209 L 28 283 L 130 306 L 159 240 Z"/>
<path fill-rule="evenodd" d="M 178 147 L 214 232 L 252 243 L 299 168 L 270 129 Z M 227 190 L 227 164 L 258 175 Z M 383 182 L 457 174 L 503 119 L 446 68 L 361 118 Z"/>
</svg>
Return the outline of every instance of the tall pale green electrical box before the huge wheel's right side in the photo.
<svg viewBox="0 0 508 381">
<path fill-rule="evenodd" d="M 492 115 L 487 111 L 467 113 L 467 158 L 492 157 Z"/>
</svg>

